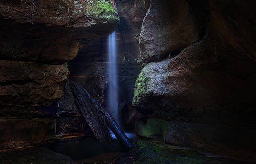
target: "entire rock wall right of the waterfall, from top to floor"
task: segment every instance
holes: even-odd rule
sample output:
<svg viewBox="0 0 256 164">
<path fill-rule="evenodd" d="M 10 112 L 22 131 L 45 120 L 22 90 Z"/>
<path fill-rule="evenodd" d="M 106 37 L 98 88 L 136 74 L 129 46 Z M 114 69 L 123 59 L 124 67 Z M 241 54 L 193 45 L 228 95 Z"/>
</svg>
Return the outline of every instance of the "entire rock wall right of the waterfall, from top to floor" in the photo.
<svg viewBox="0 0 256 164">
<path fill-rule="evenodd" d="M 136 133 L 256 161 L 255 2 L 150 3 L 140 55 L 151 63 L 138 76 L 132 102 L 147 117 L 138 122 Z M 174 10 L 167 14 L 168 8 Z M 162 131 L 152 129 L 151 135 L 144 131 L 153 118 Z"/>
</svg>

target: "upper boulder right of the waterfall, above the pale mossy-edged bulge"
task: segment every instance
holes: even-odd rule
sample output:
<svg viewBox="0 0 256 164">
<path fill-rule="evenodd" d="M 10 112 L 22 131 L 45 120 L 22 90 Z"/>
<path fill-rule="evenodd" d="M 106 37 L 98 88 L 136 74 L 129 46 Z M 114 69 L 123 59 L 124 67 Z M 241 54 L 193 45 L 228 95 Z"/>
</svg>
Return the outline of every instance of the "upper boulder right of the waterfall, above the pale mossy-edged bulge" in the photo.
<svg viewBox="0 0 256 164">
<path fill-rule="evenodd" d="M 194 12 L 185 0 L 150 0 L 140 34 L 140 55 L 154 62 L 199 41 Z"/>
</svg>

